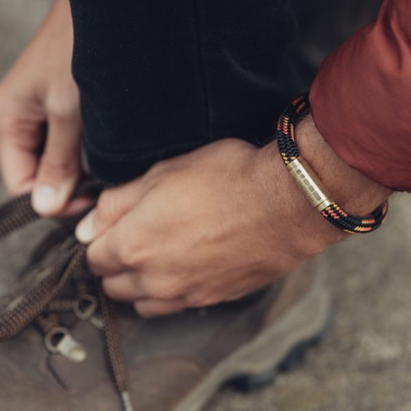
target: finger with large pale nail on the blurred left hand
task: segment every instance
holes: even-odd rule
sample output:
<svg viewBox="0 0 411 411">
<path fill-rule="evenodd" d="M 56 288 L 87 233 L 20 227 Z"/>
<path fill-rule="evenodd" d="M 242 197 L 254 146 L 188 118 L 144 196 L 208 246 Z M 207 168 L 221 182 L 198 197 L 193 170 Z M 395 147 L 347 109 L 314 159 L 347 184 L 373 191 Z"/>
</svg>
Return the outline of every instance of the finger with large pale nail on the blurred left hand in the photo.
<svg viewBox="0 0 411 411">
<path fill-rule="evenodd" d="M 58 214 L 69 202 L 81 173 L 81 137 L 79 114 L 50 116 L 32 195 L 32 206 L 39 214 Z"/>
</svg>

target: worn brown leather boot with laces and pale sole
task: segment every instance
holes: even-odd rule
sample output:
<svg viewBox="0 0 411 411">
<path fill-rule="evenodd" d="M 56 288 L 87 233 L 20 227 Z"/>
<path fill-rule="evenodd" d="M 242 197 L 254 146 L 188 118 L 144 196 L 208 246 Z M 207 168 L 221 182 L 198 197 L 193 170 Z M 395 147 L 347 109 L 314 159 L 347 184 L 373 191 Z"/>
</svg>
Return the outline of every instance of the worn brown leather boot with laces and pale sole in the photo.
<svg viewBox="0 0 411 411">
<path fill-rule="evenodd" d="M 35 218 L 18 201 L 0 209 L 0 236 Z M 227 382 L 271 382 L 323 334 L 329 295 L 312 264 L 240 301 L 145 320 L 84 274 L 74 225 L 0 296 L 1 410 L 200 410 Z"/>
</svg>

